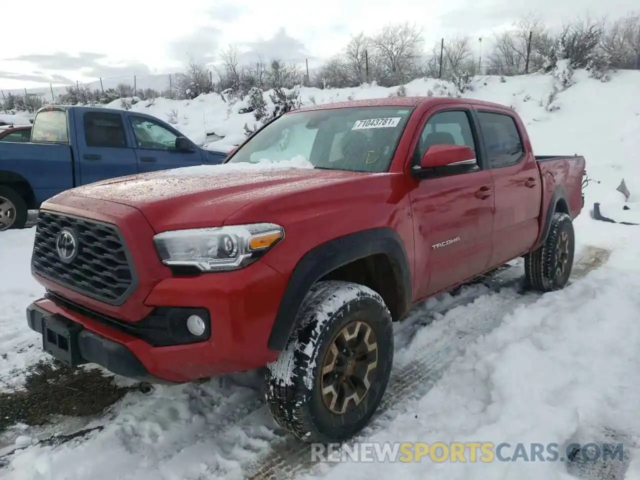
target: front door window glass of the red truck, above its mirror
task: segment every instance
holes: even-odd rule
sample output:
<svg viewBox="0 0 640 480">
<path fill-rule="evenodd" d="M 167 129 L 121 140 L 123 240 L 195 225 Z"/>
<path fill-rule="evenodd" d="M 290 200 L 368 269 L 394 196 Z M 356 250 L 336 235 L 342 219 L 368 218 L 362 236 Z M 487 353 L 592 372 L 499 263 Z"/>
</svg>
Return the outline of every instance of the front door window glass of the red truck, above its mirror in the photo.
<svg viewBox="0 0 640 480">
<path fill-rule="evenodd" d="M 413 152 L 413 165 L 420 164 L 420 159 L 431 145 L 442 144 L 465 145 L 476 152 L 477 158 L 476 142 L 467 111 L 442 111 L 431 116 L 424 125 L 424 130 Z"/>
</svg>

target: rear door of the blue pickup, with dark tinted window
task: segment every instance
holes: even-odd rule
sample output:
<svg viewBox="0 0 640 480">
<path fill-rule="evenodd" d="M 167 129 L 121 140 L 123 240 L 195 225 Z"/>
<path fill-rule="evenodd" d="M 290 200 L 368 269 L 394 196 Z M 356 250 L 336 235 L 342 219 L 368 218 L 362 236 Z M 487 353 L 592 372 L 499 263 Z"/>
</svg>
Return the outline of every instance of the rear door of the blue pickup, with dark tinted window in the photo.
<svg viewBox="0 0 640 480">
<path fill-rule="evenodd" d="M 77 109 L 79 185 L 138 173 L 122 113 Z"/>
</svg>

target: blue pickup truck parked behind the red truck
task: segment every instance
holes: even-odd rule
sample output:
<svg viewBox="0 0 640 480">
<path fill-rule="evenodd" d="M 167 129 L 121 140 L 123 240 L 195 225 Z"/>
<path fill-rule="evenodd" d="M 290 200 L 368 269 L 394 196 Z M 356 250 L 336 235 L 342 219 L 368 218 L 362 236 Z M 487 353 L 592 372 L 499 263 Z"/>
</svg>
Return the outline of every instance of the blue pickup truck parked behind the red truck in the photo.
<svg viewBox="0 0 640 480">
<path fill-rule="evenodd" d="M 131 110 L 47 106 L 28 143 L 0 142 L 0 231 L 22 228 L 28 210 L 99 180 L 220 164 L 227 152 L 195 145 L 159 118 Z"/>
</svg>

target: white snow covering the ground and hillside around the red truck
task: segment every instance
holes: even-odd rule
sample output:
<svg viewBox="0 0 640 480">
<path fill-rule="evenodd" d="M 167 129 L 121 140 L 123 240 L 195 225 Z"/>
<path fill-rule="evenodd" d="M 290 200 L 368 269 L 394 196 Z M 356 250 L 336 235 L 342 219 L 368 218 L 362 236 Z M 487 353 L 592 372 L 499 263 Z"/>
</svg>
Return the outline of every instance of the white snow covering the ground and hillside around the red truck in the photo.
<svg viewBox="0 0 640 480">
<path fill-rule="evenodd" d="M 465 287 L 458 296 L 417 308 L 396 325 L 388 393 L 358 440 L 564 445 L 603 442 L 606 432 L 614 431 L 614 443 L 623 442 L 630 454 L 626 478 L 640 477 L 640 227 L 589 216 L 590 206 L 601 202 L 603 214 L 626 220 L 621 217 L 625 199 L 616 191 L 623 178 L 632 194 L 628 205 L 640 207 L 640 72 L 619 72 L 600 83 L 577 71 L 572 86 L 552 103 L 559 109 L 545 108 L 554 85 L 557 79 L 541 74 L 504 83 L 481 77 L 464 96 L 515 107 L 536 154 L 586 157 L 589 177 L 600 183 L 586 188 L 586 208 L 575 222 L 572 284 L 543 296 L 520 292 L 523 268 L 515 262 L 490 287 Z M 303 88 L 301 97 L 305 104 L 311 97 L 324 103 L 387 97 L 395 90 Z M 455 92 L 451 84 L 434 80 L 414 81 L 406 90 L 408 95 Z M 236 113 L 242 106 L 238 102 L 228 111 L 212 94 L 133 108 L 164 120 L 175 110 L 176 127 L 193 140 L 215 133 L 225 137 L 215 143 L 226 147 L 243 139 L 245 123 L 253 124 L 252 114 Z M 29 301 L 42 294 L 29 273 L 32 241 L 33 230 L 0 234 L 0 392 L 20 387 L 28 367 L 45 358 L 24 319 Z M 0 403 L 0 419 L 2 408 Z M 83 438 L 38 443 L 52 433 L 93 427 L 99 429 Z M 312 464 L 310 459 L 310 448 L 292 442 L 269 418 L 258 372 L 131 392 L 100 415 L 0 433 L 5 463 L 0 476 L 12 480 L 575 478 L 568 470 L 588 478 L 586 470 L 568 469 L 561 461 Z M 612 478 L 615 467 L 607 468 L 596 477 Z"/>
</svg>

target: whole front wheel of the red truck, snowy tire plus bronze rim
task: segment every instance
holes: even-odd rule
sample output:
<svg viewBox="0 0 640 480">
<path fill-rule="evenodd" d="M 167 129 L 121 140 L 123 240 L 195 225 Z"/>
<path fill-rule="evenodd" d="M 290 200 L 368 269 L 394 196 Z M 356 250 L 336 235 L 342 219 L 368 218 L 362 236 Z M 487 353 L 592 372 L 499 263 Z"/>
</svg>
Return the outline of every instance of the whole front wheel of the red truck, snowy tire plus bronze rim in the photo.
<svg viewBox="0 0 640 480">
<path fill-rule="evenodd" d="M 391 315 L 376 292 L 318 282 L 296 331 L 266 369 L 266 400 L 276 422 L 304 442 L 342 442 L 376 412 L 394 353 Z"/>
</svg>

